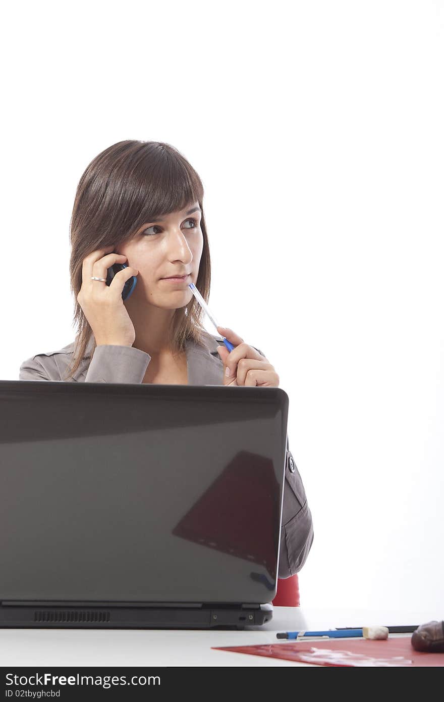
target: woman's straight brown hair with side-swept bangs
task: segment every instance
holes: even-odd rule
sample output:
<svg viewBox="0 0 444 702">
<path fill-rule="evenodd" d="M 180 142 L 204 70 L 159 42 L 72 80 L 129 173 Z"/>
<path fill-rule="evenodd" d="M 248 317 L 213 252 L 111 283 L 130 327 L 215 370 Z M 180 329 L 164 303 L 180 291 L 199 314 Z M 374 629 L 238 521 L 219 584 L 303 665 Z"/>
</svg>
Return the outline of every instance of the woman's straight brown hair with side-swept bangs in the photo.
<svg viewBox="0 0 444 702">
<path fill-rule="evenodd" d="M 203 214 L 203 185 L 187 159 L 170 144 L 157 141 L 125 140 L 105 149 L 86 167 L 76 190 L 69 241 L 71 291 L 76 299 L 74 324 L 78 328 L 73 360 L 64 380 L 74 376 L 93 330 L 77 301 L 82 284 L 83 258 L 91 251 L 131 239 L 145 222 L 184 209 L 199 201 L 203 251 L 196 288 L 208 302 L 210 294 L 210 250 Z M 169 343 L 182 352 L 187 339 L 203 344 L 203 310 L 193 296 L 186 307 L 175 310 Z"/>
</svg>

